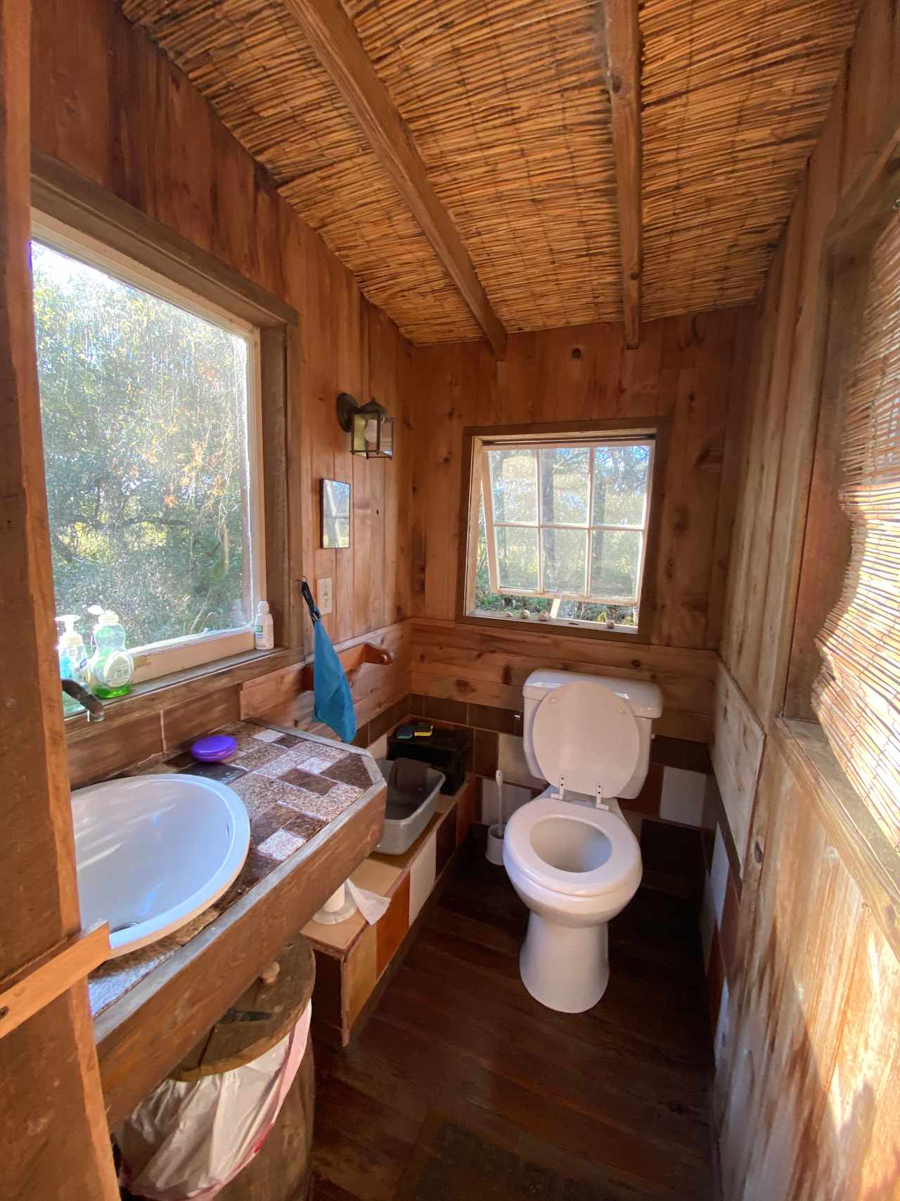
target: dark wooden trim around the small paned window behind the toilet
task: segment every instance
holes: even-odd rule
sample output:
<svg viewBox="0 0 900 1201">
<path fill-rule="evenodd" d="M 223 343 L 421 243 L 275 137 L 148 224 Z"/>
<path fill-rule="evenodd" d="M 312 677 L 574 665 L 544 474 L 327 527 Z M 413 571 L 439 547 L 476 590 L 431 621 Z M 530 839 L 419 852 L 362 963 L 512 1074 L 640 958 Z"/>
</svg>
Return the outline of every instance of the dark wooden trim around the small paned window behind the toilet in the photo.
<svg viewBox="0 0 900 1201">
<path fill-rule="evenodd" d="M 656 596 L 656 574 L 659 562 L 660 531 L 662 508 L 665 504 L 665 479 L 668 460 L 668 418 L 665 416 L 648 417 L 642 420 L 622 420 L 605 418 L 602 420 L 582 422 L 542 422 L 516 425 L 473 425 L 462 431 L 462 488 L 460 498 L 460 538 L 457 560 L 456 621 L 467 626 L 479 626 L 493 629 L 496 633 L 508 633 L 511 626 L 526 634 L 546 634 L 547 632 L 565 633 L 575 638 L 594 638 L 604 641 L 622 643 L 626 646 L 647 646 L 650 643 Z M 472 504 L 474 480 L 480 478 L 480 462 L 476 452 L 484 438 L 527 440 L 528 437 L 546 438 L 553 435 L 584 435 L 586 438 L 604 436 L 622 436 L 624 438 L 654 438 L 653 472 L 650 477 L 650 504 L 647 522 L 643 580 L 641 587 L 641 605 L 637 619 L 637 631 L 634 634 L 618 629 L 590 629 L 586 626 L 563 621 L 518 621 L 511 617 L 479 617 L 467 613 L 467 599 L 472 590 L 475 556 L 470 554 L 478 538 L 478 512 Z M 479 456 L 480 458 L 480 456 Z"/>
</svg>

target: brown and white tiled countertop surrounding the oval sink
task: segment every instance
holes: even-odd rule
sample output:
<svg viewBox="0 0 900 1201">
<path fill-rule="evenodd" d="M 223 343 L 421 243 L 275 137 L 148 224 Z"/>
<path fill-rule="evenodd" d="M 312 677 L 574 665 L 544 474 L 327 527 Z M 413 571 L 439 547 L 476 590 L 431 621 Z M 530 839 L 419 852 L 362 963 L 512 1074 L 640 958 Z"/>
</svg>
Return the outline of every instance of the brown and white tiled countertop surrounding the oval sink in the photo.
<svg viewBox="0 0 900 1201">
<path fill-rule="evenodd" d="M 250 817 L 250 850 L 238 879 L 209 909 L 173 934 L 109 960 L 89 976 L 91 1014 L 96 1017 L 170 955 L 209 926 L 239 897 L 359 800 L 382 775 L 358 747 L 314 734 L 239 722 L 230 734 L 238 753 L 228 763 L 200 764 L 182 753 L 136 775 L 184 772 L 217 779 L 240 796 Z"/>
</svg>

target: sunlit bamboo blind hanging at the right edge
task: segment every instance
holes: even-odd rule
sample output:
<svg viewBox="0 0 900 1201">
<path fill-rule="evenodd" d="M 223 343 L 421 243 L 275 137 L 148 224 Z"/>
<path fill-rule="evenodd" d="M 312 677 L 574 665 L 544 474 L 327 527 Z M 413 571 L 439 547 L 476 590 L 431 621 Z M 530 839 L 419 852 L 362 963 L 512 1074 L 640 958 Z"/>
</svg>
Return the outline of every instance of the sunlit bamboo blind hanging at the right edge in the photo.
<svg viewBox="0 0 900 1201">
<path fill-rule="evenodd" d="M 852 550 L 816 643 L 814 705 L 834 753 L 900 848 L 900 216 L 869 264 L 841 440 Z"/>
</svg>

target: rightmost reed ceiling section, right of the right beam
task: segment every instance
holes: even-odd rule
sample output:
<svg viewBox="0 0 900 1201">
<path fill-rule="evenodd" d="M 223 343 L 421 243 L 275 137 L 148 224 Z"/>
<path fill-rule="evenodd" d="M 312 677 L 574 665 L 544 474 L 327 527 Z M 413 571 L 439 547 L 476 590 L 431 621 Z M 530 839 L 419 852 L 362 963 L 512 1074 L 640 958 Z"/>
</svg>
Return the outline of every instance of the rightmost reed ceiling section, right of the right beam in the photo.
<svg viewBox="0 0 900 1201">
<path fill-rule="evenodd" d="M 857 0 L 641 7 L 644 318 L 756 297 L 857 8 Z"/>
</svg>

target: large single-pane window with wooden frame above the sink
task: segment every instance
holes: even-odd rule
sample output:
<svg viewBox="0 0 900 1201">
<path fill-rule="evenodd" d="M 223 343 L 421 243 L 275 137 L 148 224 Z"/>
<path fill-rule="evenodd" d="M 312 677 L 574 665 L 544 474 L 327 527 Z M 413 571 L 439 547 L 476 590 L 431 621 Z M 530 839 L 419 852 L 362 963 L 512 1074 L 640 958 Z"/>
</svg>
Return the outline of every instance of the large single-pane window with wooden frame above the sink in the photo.
<svg viewBox="0 0 900 1201">
<path fill-rule="evenodd" d="M 278 480 L 296 313 L 73 173 L 34 196 L 56 614 L 89 643 L 89 607 L 113 609 L 138 683 L 253 652 L 260 599 L 299 641 Z"/>
</svg>

